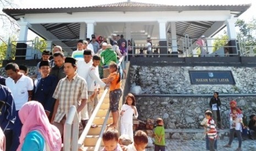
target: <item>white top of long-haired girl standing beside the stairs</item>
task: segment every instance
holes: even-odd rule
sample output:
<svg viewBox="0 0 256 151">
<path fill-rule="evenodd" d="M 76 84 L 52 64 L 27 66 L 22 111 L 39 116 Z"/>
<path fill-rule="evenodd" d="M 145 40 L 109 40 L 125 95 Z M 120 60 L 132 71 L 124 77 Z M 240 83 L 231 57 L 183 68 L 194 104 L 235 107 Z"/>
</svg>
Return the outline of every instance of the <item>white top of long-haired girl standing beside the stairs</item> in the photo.
<svg viewBox="0 0 256 151">
<path fill-rule="evenodd" d="M 134 109 L 131 106 L 127 105 L 127 104 L 123 104 L 123 106 L 121 108 L 121 111 L 124 111 L 123 115 L 121 117 L 122 123 L 132 124 L 133 123 L 133 114 L 134 114 L 135 118 L 138 117 L 138 112 L 135 115 Z"/>
</svg>

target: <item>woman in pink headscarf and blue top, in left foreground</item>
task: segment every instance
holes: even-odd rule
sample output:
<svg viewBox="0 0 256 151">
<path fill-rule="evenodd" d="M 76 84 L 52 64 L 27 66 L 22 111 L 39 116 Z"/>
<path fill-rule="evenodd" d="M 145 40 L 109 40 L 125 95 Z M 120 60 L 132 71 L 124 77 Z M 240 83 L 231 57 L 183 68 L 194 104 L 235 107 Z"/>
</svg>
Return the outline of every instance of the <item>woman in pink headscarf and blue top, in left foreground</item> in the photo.
<svg viewBox="0 0 256 151">
<path fill-rule="evenodd" d="M 41 103 L 26 102 L 19 111 L 19 117 L 23 126 L 17 150 L 61 150 L 61 133 L 50 124 Z"/>
</svg>

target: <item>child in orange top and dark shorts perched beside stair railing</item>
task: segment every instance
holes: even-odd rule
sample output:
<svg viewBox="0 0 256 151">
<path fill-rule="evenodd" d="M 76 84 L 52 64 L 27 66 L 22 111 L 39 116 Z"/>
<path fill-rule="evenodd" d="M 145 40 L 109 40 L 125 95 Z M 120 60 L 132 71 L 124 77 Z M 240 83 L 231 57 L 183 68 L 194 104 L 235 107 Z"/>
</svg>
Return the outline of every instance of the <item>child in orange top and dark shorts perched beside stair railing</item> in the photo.
<svg viewBox="0 0 256 151">
<path fill-rule="evenodd" d="M 119 119 L 119 100 L 123 94 L 121 89 L 121 74 L 115 62 L 110 63 L 110 75 L 102 79 L 105 83 L 110 84 L 110 109 L 113 117 L 113 123 L 108 127 L 117 127 Z"/>
</svg>

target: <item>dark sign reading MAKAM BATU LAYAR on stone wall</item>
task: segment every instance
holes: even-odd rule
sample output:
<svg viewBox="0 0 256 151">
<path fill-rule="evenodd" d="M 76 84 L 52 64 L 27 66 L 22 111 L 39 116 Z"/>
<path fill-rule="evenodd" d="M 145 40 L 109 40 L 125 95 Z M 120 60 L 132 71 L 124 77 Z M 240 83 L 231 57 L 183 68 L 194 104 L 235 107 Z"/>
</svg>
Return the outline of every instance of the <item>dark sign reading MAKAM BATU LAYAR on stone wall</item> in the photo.
<svg viewBox="0 0 256 151">
<path fill-rule="evenodd" d="M 189 71 L 191 84 L 236 84 L 231 71 Z"/>
</svg>

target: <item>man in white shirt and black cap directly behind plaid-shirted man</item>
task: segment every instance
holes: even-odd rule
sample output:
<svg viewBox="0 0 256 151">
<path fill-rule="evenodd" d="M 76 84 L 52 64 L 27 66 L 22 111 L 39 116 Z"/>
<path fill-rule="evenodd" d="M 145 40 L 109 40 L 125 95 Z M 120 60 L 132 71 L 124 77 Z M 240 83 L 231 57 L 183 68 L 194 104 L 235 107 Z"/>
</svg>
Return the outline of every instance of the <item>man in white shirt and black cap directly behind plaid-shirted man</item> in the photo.
<svg viewBox="0 0 256 151">
<path fill-rule="evenodd" d="M 77 62 L 77 73 L 80 77 L 84 78 L 85 80 L 88 77 L 89 68 L 92 65 L 91 57 L 92 57 L 91 51 L 84 50 L 84 60 L 78 60 Z M 90 96 L 90 94 L 88 95 Z M 83 127 L 85 127 L 88 119 L 89 119 L 88 103 L 86 103 L 85 107 L 81 111 L 81 123 L 83 124 Z"/>
</svg>

